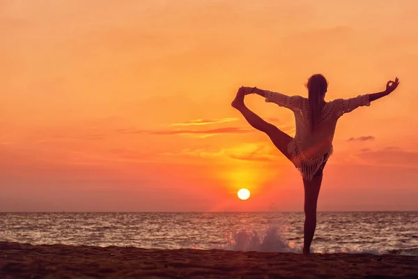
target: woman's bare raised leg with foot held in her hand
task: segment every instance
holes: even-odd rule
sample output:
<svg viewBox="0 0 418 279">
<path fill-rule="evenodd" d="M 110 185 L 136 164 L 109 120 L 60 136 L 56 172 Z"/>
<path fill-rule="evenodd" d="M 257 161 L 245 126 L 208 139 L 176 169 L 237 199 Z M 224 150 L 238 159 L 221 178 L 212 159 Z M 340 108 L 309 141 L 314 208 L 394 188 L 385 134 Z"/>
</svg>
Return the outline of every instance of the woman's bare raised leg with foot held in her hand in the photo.
<svg viewBox="0 0 418 279">
<path fill-rule="evenodd" d="M 231 105 L 236 110 L 241 112 L 242 116 L 245 117 L 249 125 L 267 134 L 268 137 L 270 137 L 270 140 L 272 140 L 274 146 L 276 146 L 277 149 L 279 149 L 279 151 L 281 151 L 281 153 L 283 153 L 284 156 L 286 156 L 286 158 L 291 160 L 291 156 L 288 153 L 287 146 L 288 146 L 288 143 L 291 140 L 293 140 L 293 138 L 290 135 L 281 131 L 279 128 L 277 128 L 273 124 L 266 122 L 254 112 L 251 112 L 251 110 L 249 110 L 249 108 L 245 106 L 244 97 L 245 97 L 245 91 L 241 87 L 240 89 L 238 89 L 237 96 L 235 96 L 235 99 L 232 101 Z"/>
</svg>

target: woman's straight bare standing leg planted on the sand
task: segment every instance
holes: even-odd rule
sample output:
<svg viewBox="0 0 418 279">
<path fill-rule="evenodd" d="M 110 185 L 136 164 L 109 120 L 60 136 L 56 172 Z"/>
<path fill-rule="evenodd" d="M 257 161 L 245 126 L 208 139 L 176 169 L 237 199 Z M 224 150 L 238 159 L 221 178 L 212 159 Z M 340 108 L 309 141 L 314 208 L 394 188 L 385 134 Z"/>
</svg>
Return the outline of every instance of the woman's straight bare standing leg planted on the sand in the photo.
<svg viewBox="0 0 418 279">
<path fill-rule="evenodd" d="M 311 249 L 312 239 L 314 239 L 316 229 L 316 204 L 318 203 L 318 195 L 320 184 L 323 176 L 314 176 L 311 181 L 303 180 L 304 185 L 304 241 L 303 253 L 309 254 Z"/>
</svg>

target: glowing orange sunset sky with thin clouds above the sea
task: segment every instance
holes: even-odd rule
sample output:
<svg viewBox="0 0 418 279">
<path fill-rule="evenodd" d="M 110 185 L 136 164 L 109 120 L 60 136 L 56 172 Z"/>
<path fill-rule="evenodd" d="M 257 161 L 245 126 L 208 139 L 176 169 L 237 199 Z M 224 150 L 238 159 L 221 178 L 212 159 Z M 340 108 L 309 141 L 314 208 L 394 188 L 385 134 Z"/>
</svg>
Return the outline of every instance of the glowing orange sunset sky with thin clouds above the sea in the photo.
<svg viewBox="0 0 418 279">
<path fill-rule="evenodd" d="M 242 84 L 307 96 L 313 73 L 327 100 L 401 80 L 339 121 L 318 210 L 418 210 L 417 13 L 415 0 L 1 1 L 0 211 L 301 211 L 300 174 L 230 103 Z M 247 105 L 293 135 L 288 110 Z"/>
</svg>

